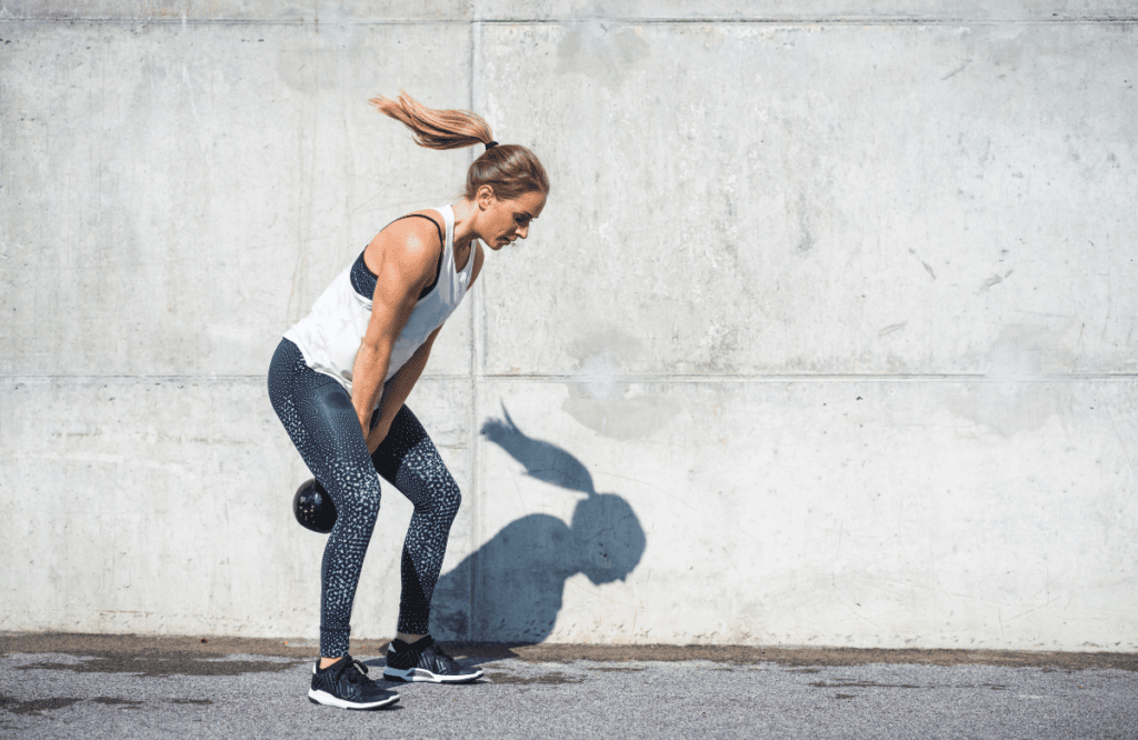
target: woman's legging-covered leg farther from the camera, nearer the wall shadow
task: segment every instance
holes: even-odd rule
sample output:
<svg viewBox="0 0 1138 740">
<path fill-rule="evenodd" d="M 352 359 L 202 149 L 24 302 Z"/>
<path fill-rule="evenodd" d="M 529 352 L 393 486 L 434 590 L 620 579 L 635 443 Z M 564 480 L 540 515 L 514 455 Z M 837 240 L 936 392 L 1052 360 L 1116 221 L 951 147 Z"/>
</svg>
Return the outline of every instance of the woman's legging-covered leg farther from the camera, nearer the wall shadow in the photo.
<svg viewBox="0 0 1138 740">
<path fill-rule="evenodd" d="M 414 504 L 403 541 L 399 572 L 399 622 L 396 630 L 424 635 L 430 630 L 430 600 L 443 569 L 446 541 L 462 494 L 419 419 L 403 406 L 387 437 L 371 455 L 376 470 Z"/>
</svg>

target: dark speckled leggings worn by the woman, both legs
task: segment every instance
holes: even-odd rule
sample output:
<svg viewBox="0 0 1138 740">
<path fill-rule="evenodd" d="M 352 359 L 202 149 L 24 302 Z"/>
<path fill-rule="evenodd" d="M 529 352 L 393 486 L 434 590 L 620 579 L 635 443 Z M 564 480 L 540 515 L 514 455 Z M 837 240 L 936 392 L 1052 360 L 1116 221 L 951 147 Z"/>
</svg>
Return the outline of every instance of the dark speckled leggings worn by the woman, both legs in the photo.
<svg viewBox="0 0 1138 740">
<path fill-rule="evenodd" d="M 435 443 L 406 406 L 387 437 L 368 454 L 352 397 L 332 378 L 304 362 L 282 339 L 269 367 L 269 398 L 308 470 L 328 490 L 337 519 L 321 570 L 320 655 L 348 653 L 352 602 L 379 515 L 378 472 L 414 504 L 403 541 L 397 630 L 427 634 L 451 524 L 462 496 Z"/>
</svg>

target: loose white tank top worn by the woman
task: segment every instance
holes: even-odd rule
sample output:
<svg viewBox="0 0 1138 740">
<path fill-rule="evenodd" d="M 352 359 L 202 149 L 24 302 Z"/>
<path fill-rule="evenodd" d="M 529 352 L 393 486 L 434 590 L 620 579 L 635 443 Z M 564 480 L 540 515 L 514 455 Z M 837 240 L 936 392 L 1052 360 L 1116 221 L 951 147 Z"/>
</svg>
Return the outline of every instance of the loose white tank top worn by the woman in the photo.
<svg viewBox="0 0 1138 740">
<path fill-rule="evenodd" d="M 443 257 L 438 271 L 438 281 L 426 296 L 419 299 L 411 318 L 403 327 L 395 346 L 391 347 L 391 361 L 387 368 L 387 377 L 391 379 L 411 355 L 415 353 L 435 329 L 443 326 L 454 310 L 459 307 L 462 297 L 470 287 L 470 274 L 475 264 L 475 252 L 471 249 L 467 266 L 462 272 L 454 269 L 454 211 L 451 206 L 435 208 L 443 214 L 445 229 L 443 232 Z M 284 332 L 304 355 L 305 364 L 327 376 L 335 378 L 348 393 L 352 393 L 352 371 L 355 368 L 356 353 L 360 343 L 368 331 L 371 319 L 371 295 L 362 296 L 352 286 L 352 268 L 341 272 L 328 286 L 328 289 L 316 298 L 308 315 L 292 324 Z M 382 393 L 379 394 L 380 398 Z M 377 401 L 377 406 L 379 402 Z"/>
</svg>

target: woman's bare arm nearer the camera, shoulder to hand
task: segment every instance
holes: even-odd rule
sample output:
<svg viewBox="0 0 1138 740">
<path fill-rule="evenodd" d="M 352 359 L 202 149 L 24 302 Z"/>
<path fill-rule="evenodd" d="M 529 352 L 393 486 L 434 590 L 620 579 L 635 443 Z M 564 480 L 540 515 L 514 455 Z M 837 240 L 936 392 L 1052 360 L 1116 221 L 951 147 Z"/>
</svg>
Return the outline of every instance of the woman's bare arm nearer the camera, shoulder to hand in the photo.
<svg viewBox="0 0 1138 740">
<path fill-rule="evenodd" d="M 422 219 L 397 221 L 368 245 L 364 261 L 376 273 L 376 293 L 368 330 L 352 369 L 352 405 L 364 438 L 384 390 L 391 348 L 419 302 L 419 294 L 435 279 L 442 248 L 437 231 Z"/>
</svg>

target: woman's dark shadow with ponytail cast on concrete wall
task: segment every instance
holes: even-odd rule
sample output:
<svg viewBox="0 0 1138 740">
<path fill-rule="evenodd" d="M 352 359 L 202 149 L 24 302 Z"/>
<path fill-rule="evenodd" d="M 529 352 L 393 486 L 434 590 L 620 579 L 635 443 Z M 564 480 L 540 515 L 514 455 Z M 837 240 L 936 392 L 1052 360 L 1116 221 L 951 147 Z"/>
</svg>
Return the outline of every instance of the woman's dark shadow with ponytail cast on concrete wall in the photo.
<svg viewBox="0 0 1138 740">
<path fill-rule="evenodd" d="M 431 634 L 440 640 L 541 642 L 553 631 L 566 579 L 622 581 L 644 554 L 644 529 L 628 502 L 596 493 L 593 476 L 561 447 L 526 436 L 502 406 L 481 433 L 526 466 L 526 474 L 587 494 L 572 523 L 531 513 L 444 574 L 431 600 Z"/>
</svg>

